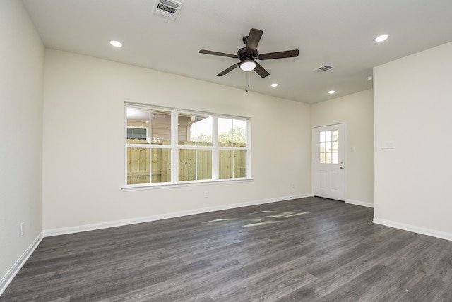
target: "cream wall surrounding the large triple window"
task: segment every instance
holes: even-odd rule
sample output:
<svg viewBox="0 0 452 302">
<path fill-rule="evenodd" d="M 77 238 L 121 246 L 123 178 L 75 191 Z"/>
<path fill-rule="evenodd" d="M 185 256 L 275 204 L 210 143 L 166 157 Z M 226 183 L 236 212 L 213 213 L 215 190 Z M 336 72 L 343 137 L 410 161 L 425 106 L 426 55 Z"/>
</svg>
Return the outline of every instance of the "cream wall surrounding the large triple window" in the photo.
<svg viewBox="0 0 452 302">
<path fill-rule="evenodd" d="M 44 79 L 44 229 L 311 193 L 307 104 L 51 49 Z M 254 180 L 121 191 L 126 101 L 250 117 Z"/>
</svg>

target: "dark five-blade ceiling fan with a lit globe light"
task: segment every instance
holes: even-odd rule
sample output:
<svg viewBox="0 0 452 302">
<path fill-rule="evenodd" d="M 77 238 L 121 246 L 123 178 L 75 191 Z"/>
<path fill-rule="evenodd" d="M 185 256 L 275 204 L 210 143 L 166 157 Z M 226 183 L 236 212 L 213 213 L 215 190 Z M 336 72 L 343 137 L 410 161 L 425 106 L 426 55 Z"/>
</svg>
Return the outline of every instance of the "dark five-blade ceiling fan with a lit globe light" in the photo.
<svg viewBox="0 0 452 302">
<path fill-rule="evenodd" d="M 270 59 L 282 59 L 282 58 L 291 58 L 298 56 L 299 50 L 286 50 L 283 52 L 269 52 L 267 54 L 258 54 L 257 45 L 261 40 L 263 31 L 257 30 L 256 28 L 251 28 L 249 30 L 249 35 L 243 37 L 243 42 L 246 47 L 239 49 L 237 54 L 225 54 L 224 52 L 212 52 L 210 50 L 201 49 L 199 51 L 200 54 L 212 54 L 214 56 L 227 56 L 229 58 L 239 59 L 240 62 L 226 68 L 224 71 L 218 73 L 217 76 L 223 76 L 230 71 L 232 71 L 236 67 L 240 67 L 243 71 L 256 71 L 258 75 L 261 75 L 261 78 L 265 78 L 270 75 L 268 71 L 266 71 L 261 64 L 256 62 L 256 59 L 259 60 L 270 60 Z"/>
</svg>

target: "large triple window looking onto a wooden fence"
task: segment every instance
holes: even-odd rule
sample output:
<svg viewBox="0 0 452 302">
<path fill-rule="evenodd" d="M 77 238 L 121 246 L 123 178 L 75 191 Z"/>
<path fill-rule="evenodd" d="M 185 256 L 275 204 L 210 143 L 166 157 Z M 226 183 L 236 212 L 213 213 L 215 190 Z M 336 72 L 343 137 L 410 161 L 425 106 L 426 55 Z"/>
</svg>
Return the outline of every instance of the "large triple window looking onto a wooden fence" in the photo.
<svg viewBox="0 0 452 302">
<path fill-rule="evenodd" d="M 250 179 L 249 119 L 126 104 L 126 186 Z"/>
</svg>

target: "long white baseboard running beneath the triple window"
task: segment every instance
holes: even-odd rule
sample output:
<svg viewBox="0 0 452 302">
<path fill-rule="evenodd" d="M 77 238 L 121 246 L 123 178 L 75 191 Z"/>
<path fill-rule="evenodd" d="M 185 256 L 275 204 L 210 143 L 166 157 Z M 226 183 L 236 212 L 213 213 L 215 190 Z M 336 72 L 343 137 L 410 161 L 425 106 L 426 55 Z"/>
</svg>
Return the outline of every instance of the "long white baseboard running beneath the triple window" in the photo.
<svg viewBox="0 0 452 302">
<path fill-rule="evenodd" d="M 147 216 L 147 217 L 137 217 L 137 218 L 131 218 L 131 219 L 116 220 L 116 221 L 112 221 L 112 222 L 100 222 L 97 224 L 85 224 L 85 225 L 81 225 L 81 226 L 65 227 L 65 228 L 60 228 L 60 229 L 47 229 L 47 230 L 44 230 L 43 233 L 44 233 L 44 237 L 59 236 L 59 235 L 65 235 L 65 234 L 79 233 L 82 231 L 94 231 L 97 229 L 107 229 L 109 227 L 121 227 L 121 226 L 129 225 L 129 224 L 153 222 L 156 220 L 169 219 L 169 218 L 175 218 L 175 217 L 183 217 L 183 216 L 201 214 L 201 213 L 206 213 L 206 212 L 229 210 L 229 209 L 234 209 L 237 207 L 249 207 L 251 205 L 263 205 L 265 203 L 275 203 L 278 201 L 297 199 L 297 198 L 305 198 L 305 197 L 309 197 L 309 196 L 311 196 L 311 193 L 285 196 L 285 197 L 280 197 L 280 198 L 270 198 L 270 199 L 265 199 L 265 200 L 254 200 L 254 201 L 245 202 L 245 203 L 233 203 L 233 204 L 229 204 L 229 205 L 219 205 L 219 206 L 215 206 L 215 207 L 203 207 L 203 208 L 194 209 L 194 210 L 186 210 L 186 211 L 171 212 L 171 213 L 161 214 L 161 215 L 151 215 L 151 216 Z"/>
</svg>

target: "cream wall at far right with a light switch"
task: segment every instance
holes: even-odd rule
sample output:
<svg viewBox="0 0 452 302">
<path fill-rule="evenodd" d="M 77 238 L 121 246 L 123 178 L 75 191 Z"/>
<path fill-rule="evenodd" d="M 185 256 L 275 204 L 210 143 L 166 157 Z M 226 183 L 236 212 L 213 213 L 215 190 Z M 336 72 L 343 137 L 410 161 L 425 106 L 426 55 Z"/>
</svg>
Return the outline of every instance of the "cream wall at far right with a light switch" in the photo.
<svg viewBox="0 0 452 302">
<path fill-rule="evenodd" d="M 451 66 L 452 42 L 374 68 L 375 222 L 452 239 Z"/>
</svg>

